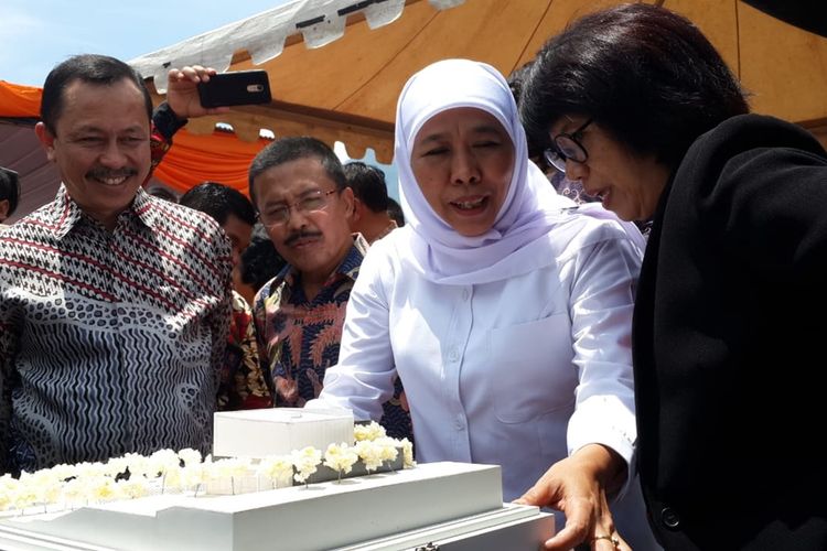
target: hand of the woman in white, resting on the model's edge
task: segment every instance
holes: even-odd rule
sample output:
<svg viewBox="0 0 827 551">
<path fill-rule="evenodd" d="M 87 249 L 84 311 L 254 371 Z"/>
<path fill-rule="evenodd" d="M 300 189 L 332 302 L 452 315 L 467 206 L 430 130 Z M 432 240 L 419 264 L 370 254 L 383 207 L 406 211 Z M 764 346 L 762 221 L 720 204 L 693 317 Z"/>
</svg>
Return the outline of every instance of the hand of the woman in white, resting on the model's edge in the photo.
<svg viewBox="0 0 827 551">
<path fill-rule="evenodd" d="M 626 462 L 601 444 L 589 444 L 551 465 L 515 504 L 551 507 L 566 514 L 566 526 L 545 542 L 547 550 L 570 550 L 588 542 L 594 551 L 629 550 L 617 534 L 606 495 L 626 476 Z"/>
</svg>

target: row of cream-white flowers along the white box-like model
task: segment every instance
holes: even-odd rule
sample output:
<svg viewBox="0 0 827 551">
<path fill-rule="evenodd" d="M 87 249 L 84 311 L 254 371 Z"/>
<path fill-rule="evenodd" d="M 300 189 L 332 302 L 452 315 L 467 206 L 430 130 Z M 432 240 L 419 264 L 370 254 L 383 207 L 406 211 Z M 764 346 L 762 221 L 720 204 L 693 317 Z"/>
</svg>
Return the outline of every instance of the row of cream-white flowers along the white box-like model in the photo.
<svg viewBox="0 0 827 551">
<path fill-rule="evenodd" d="M 75 509 L 89 504 L 137 499 L 153 494 L 192 493 L 202 495 L 236 494 L 241 480 L 255 479 L 255 488 L 283 488 L 294 483 L 309 484 L 311 475 L 324 465 L 337 473 L 339 479 L 352 473 L 361 460 L 367 473 L 395 462 L 402 452 L 402 468 L 415 465 L 414 446 L 407 440 L 387 436 L 376 422 L 354 428 L 355 445 L 330 444 L 322 453 L 313 446 L 290 455 L 267 456 L 254 463 L 233 457 L 213 461 L 196 450 L 159 450 L 149 456 L 128 453 L 105 463 L 84 462 L 55 465 L 19 478 L 0 476 L 0 512 L 17 515 Z M 261 485 L 264 482 L 264 486 Z M 210 491 L 211 485 L 213 491 Z M 229 491 L 226 488 L 229 488 Z"/>
</svg>

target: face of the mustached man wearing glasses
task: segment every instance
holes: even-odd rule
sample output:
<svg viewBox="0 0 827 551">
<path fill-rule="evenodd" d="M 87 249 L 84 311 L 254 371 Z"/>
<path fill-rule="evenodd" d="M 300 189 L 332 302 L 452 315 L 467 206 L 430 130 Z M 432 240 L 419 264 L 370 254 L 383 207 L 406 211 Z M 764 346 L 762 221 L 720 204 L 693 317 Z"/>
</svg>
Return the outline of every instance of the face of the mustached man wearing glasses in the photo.
<svg viewBox="0 0 827 551">
<path fill-rule="evenodd" d="M 276 250 L 305 280 L 324 282 L 353 246 L 348 226 L 353 191 L 326 194 L 336 188 L 316 158 L 302 158 L 265 170 L 254 181 L 256 206 Z M 316 210 L 297 208 L 303 199 L 324 194 Z M 268 225 L 268 213 L 288 206 L 283 224 Z"/>
</svg>

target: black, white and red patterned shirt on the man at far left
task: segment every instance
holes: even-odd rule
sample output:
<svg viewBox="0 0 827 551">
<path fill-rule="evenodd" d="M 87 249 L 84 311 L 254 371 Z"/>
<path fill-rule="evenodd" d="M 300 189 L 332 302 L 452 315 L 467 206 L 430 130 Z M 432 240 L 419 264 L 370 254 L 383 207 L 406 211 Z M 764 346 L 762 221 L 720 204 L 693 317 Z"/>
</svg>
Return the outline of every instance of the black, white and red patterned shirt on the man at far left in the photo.
<svg viewBox="0 0 827 551">
<path fill-rule="evenodd" d="M 229 244 L 142 190 L 115 231 L 61 186 L 0 234 L 0 469 L 212 445 Z"/>
</svg>

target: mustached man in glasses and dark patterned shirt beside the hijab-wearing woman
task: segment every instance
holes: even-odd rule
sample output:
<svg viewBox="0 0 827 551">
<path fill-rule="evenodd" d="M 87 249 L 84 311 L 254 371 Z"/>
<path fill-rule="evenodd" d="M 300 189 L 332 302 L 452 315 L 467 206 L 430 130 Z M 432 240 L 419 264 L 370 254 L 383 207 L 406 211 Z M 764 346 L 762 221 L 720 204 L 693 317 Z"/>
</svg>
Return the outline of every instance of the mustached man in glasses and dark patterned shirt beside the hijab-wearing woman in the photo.
<svg viewBox="0 0 827 551">
<path fill-rule="evenodd" d="M 250 164 L 249 184 L 259 219 L 288 262 L 256 295 L 259 355 L 271 374 L 276 406 L 303 407 L 319 396 L 325 370 L 339 358 L 345 307 L 367 241 L 351 233 L 354 197 L 342 163 L 314 138 L 267 145 Z M 389 435 L 405 437 L 405 404 L 389 408 L 383 424 Z"/>
</svg>

